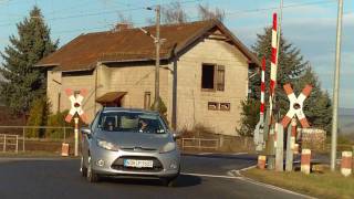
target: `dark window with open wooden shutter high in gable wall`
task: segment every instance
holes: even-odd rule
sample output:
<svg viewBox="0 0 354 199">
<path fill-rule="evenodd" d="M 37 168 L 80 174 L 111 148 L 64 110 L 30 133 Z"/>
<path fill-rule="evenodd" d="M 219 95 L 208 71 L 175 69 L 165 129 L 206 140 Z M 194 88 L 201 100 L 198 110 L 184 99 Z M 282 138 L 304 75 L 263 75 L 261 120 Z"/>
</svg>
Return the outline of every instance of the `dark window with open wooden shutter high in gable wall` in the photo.
<svg viewBox="0 0 354 199">
<path fill-rule="evenodd" d="M 225 66 L 202 64 L 201 88 L 205 91 L 225 91 Z"/>
</svg>

